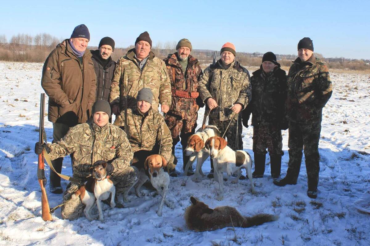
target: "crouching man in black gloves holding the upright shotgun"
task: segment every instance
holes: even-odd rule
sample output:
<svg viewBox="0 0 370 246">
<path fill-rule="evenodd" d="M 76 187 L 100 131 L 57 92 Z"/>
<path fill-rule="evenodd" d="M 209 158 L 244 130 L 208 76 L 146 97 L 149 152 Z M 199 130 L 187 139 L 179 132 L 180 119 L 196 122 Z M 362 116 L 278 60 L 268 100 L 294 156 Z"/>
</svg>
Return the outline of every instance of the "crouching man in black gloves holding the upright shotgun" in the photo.
<svg viewBox="0 0 370 246">
<path fill-rule="evenodd" d="M 58 142 L 52 144 L 35 144 L 35 153 L 40 154 L 43 148 L 54 160 L 73 153 L 73 177 L 84 183 L 90 175 L 89 167 L 97 160 L 108 162 L 106 167 L 110 179 L 116 187 L 116 194 L 123 193 L 137 180 L 136 167 L 131 167 L 133 153 L 124 131 L 109 123 L 110 104 L 97 100 L 92 106 L 93 122 L 72 127 Z M 79 188 L 78 183 L 71 182 L 63 194 L 61 215 L 63 219 L 74 220 L 80 217 L 84 205 L 79 197 L 71 195 Z M 116 203 L 121 207 L 120 203 Z"/>
</svg>

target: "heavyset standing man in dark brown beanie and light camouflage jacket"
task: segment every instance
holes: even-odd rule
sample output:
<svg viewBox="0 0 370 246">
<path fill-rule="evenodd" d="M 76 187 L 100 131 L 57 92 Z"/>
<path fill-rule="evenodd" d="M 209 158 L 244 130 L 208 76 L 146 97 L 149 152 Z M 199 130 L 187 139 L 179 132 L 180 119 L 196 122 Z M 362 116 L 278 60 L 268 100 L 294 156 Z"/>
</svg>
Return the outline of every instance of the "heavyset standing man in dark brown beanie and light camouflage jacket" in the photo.
<svg viewBox="0 0 370 246">
<path fill-rule="evenodd" d="M 109 102 L 112 112 L 120 114 L 127 108 L 136 108 L 136 96 L 144 87 L 152 89 L 153 110 L 167 113 L 171 105 L 171 84 L 164 61 L 151 51 L 152 40 L 147 31 L 135 40 L 135 48 L 127 51 L 117 62 L 111 84 Z"/>
</svg>

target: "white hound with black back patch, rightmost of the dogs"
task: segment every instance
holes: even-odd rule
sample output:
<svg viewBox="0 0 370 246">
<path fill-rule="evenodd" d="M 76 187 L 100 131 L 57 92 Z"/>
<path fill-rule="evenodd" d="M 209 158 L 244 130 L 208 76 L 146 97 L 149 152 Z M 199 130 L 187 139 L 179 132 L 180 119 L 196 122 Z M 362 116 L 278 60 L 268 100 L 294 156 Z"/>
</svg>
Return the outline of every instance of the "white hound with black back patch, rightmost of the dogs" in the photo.
<svg viewBox="0 0 370 246">
<path fill-rule="evenodd" d="M 205 148 L 209 150 L 210 156 L 213 159 L 213 167 L 215 169 L 215 180 L 218 181 L 220 193 L 217 200 L 223 199 L 223 173 L 231 176 L 238 172 L 238 176 L 232 183 L 238 183 L 239 177 L 244 168 L 250 185 L 252 186 L 252 193 L 255 193 L 255 188 L 252 181 L 252 159 L 250 155 L 244 150 L 232 150 L 227 146 L 228 142 L 222 137 L 210 137 L 205 143 Z"/>
</svg>

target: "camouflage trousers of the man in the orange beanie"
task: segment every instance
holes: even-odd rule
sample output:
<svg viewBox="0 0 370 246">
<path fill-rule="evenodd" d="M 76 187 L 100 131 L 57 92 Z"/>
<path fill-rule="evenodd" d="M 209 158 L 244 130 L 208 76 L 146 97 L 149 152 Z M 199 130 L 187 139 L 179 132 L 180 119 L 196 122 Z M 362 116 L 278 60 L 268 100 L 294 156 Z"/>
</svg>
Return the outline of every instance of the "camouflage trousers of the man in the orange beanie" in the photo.
<svg viewBox="0 0 370 246">
<path fill-rule="evenodd" d="M 228 127 L 230 120 L 219 120 L 218 117 L 209 116 L 208 124 L 217 126 L 218 130 L 221 132 L 221 136 Z M 234 117 L 231 124 L 225 134 L 228 146 L 233 150 L 243 149 L 243 139 L 242 139 L 242 114 L 238 114 L 238 117 Z"/>
</svg>

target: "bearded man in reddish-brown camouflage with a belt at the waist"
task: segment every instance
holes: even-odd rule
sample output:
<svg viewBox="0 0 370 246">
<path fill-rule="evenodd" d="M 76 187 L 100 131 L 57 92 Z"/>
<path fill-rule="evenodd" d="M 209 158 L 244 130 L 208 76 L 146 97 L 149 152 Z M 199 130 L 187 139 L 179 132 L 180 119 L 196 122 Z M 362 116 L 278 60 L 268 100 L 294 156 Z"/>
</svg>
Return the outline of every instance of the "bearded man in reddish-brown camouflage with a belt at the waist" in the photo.
<svg viewBox="0 0 370 246">
<path fill-rule="evenodd" d="M 181 39 L 176 46 L 176 50 L 177 52 L 169 54 L 164 59 L 172 90 L 172 103 L 165 116 L 165 122 L 172 135 L 171 158 L 174 159 L 173 162 L 176 165 L 175 146 L 181 138 L 182 162 L 183 169 L 185 169 L 189 156 L 184 155 L 184 149 L 188 144 L 189 136 L 195 132 L 199 109 L 197 104 L 197 98 L 199 97 L 198 78 L 202 69 L 198 60 L 190 55 L 192 45 L 189 40 Z M 194 172 L 190 167 L 188 175 L 191 174 L 194 174 Z M 170 175 L 177 176 L 176 172 L 172 172 Z"/>
</svg>

